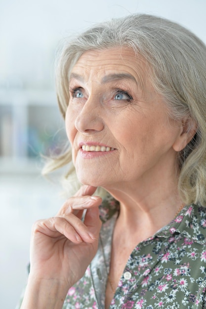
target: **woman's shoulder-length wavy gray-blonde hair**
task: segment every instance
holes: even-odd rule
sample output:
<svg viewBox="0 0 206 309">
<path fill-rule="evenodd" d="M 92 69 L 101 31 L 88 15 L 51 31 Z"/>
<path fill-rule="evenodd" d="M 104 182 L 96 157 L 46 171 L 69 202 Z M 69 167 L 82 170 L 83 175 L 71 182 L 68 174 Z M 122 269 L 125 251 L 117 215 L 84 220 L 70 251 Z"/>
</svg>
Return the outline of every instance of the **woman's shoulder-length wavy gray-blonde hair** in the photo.
<svg viewBox="0 0 206 309">
<path fill-rule="evenodd" d="M 91 27 L 66 42 L 58 59 L 56 88 L 63 117 L 69 102 L 69 73 L 73 66 L 85 51 L 111 47 L 130 47 L 141 55 L 171 116 L 187 117 L 197 124 L 195 136 L 178 156 L 179 192 L 187 204 L 206 205 L 205 44 L 179 24 L 146 14 L 133 14 Z M 71 160 L 69 150 L 50 167 Z"/>
</svg>

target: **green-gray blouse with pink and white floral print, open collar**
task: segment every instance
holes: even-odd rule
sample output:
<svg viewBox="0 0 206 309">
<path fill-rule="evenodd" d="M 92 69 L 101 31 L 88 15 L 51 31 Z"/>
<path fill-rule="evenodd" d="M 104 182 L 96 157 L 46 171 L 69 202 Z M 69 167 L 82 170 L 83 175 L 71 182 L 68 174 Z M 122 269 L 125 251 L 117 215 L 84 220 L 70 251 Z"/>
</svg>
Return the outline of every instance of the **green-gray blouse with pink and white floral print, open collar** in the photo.
<svg viewBox="0 0 206 309">
<path fill-rule="evenodd" d="M 63 309 L 104 309 L 118 207 L 111 196 L 100 206 L 97 254 L 69 289 Z M 206 208 L 185 206 L 170 224 L 134 248 L 110 306 L 133 308 L 206 308 Z"/>
</svg>

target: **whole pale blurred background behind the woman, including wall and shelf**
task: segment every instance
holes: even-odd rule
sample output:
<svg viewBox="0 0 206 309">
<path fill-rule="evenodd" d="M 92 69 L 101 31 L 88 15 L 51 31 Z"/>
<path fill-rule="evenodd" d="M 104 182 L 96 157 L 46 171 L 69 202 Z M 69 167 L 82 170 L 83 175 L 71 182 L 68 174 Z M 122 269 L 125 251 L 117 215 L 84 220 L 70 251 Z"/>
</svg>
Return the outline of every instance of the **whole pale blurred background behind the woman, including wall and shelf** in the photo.
<svg viewBox="0 0 206 309">
<path fill-rule="evenodd" d="M 66 143 L 54 89 L 56 48 L 93 23 L 134 12 L 177 21 L 206 42 L 205 0 L 0 0 L 2 309 L 15 308 L 26 284 L 33 222 L 63 202 L 59 173 L 44 179 L 40 156 Z"/>
</svg>

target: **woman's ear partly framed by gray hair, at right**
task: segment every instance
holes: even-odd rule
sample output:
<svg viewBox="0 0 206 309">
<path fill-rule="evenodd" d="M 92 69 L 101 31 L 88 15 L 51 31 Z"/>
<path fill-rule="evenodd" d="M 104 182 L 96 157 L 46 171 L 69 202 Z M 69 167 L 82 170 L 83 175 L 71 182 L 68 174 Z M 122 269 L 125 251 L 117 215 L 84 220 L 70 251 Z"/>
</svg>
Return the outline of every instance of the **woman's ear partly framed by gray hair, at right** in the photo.
<svg viewBox="0 0 206 309">
<path fill-rule="evenodd" d="M 183 118 L 181 121 L 180 134 L 173 144 L 173 149 L 176 152 L 183 150 L 186 145 L 193 139 L 197 132 L 197 123 L 192 118 Z"/>
</svg>

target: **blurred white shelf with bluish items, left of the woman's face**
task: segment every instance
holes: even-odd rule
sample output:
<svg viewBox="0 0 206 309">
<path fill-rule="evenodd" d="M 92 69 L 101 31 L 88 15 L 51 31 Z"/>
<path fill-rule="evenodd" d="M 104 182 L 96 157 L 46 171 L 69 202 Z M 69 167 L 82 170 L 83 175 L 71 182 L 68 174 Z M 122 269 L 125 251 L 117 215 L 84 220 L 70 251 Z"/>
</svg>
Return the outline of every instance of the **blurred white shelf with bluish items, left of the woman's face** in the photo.
<svg viewBox="0 0 206 309">
<path fill-rule="evenodd" d="M 0 173 L 36 173 L 40 154 L 66 142 L 54 91 L 0 89 Z"/>
</svg>

